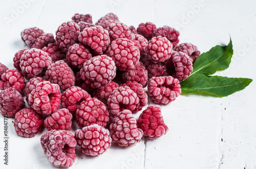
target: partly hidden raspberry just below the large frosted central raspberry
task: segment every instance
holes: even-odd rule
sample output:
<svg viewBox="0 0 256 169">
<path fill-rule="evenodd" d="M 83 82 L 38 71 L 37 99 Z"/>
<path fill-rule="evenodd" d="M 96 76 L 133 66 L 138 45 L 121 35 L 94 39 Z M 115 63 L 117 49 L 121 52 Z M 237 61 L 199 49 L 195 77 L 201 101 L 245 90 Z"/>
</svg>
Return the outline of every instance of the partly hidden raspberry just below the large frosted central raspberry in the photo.
<svg viewBox="0 0 256 169">
<path fill-rule="evenodd" d="M 93 91 L 93 95 L 94 97 L 102 101 L 104 104 L 107 104 L 111 92 L 113 92 L 114 89 L 118 87 L 119 85 L 116 82 L 111 81 L 108 85 L 104 86 L 104 88 L 97 88 L 97 90 Z"/>
</svg>

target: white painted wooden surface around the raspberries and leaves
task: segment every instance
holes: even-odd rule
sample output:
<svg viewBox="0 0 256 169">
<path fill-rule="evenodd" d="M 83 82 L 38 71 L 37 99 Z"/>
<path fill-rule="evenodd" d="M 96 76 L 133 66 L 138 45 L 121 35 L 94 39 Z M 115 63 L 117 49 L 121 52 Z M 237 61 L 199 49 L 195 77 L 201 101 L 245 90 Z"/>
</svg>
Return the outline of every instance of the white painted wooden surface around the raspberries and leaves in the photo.
<svg viewBox="0 0 256 169">
<path fill-rule="evenodd" d="M 70 168 L 256 168 L 256 1 L 50 1 L 0 2 L 0 62 L 13 68 L 14 53 L 25 47 L 20 32 L 37 26 L 53 33 L 75 13 L 91 14 L 95 23 L 113 12 L 127 25 L 151 21 L 180 31 L 180 42 L 201 52 L 227 45 L 234 55 L 230 67 L 218 75 L 254 79 L 243 91 L 228 97 L 180 95 L 162 106 L 169 131 L 161 138 L 142 139 L 130 148 L 113 144 L 98 157 L 83 155 Z M 152 102 L 151 102 L 152 103 Z M 135 116 L 138 118 L 140 112 Z M 4 118 L 0 117 L 0 168 L 56 168 L 40 146 L 42 131 L 33 138 L 15 134 L 9 119 L 9 165 L 4 165 Z M 72 129 L 74 133 L 76 128 Z"/>
</svg>

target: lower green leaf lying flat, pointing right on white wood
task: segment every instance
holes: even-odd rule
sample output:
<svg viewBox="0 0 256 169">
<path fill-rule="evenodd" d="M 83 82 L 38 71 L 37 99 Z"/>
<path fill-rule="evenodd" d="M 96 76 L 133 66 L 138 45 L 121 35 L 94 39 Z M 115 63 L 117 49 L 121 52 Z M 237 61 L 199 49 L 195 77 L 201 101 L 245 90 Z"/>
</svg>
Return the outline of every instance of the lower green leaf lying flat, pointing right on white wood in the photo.
<svg viewBox="0 0 256 169">
<path fill-rule="evenodd" d="M 229 78 L 222 76 L 207 76 L 196 73 L 180 82 L 182 93 L 203 92 L 218 97 L 225 97 L 234 92 L 243 90 L 252 79 Z"/>
</svg>

